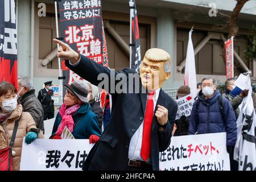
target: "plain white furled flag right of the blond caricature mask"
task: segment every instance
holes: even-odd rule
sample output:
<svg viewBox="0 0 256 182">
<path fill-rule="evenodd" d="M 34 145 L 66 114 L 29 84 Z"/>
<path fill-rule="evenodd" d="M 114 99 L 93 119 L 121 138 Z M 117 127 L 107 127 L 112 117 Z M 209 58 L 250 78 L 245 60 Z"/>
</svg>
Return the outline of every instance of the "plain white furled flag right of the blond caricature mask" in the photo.
<svg viewBox="0 0 256 182">
<path fill-rule="evenodd" d="M 186 56 L 186 64 L 185 64 L 184 85 L 189 86 L 191 95 L 193 98 L 195 98 L 197 95 L 196 64 L 195 64 L 195 53 L 194 53 L 191 35 L 192 35 L 192 30 L 189 31 L 189 36 L 188 36 L 188 48 L 187 48 L 187 56 Z"/>
</svg>

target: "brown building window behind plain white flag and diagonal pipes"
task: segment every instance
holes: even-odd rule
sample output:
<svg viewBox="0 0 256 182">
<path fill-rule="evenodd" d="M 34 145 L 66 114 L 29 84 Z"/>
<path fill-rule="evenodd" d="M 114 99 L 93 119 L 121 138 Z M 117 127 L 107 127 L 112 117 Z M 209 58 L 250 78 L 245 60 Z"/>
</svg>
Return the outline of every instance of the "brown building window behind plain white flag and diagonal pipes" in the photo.
<svg viewBox="0 0 256 182">
<path fill-rule="evenodd" d="M 177 28 L 177 66 L 185 59 L 188 46 L 187 28 Z M 192 33 L 193 47 L 195 48 L 201 40 L 207 36 L 207 31 L 194 30 Z M 248 42 L 246 36 L 236 36 L 234 39 L 234 49 L 250 69 L 249 61 L 245 59 L 245 49 Z M 224 42 L 222 40 L 210 39 L 207 44 L 195 56 L 196 73 L 202 75 L 226 75 L 225 62 L 222 58 L 222 48 Z M 234 58 L 236 60 L 236 58 Z M 235 75 L 239 75 L 240 71 L 234 67 Z M 185 69 L 183 69 L 184 73 Z"/>
</svg>

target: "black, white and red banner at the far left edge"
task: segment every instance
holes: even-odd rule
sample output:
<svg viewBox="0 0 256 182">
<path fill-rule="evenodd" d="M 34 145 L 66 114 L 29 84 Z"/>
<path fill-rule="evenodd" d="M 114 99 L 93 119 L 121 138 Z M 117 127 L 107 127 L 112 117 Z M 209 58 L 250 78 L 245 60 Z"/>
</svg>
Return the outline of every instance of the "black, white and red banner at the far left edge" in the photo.
<svg viewBox="0 0 256 182">
<path fill-rule="evenodd" d="M 14 0 L 0 1 L 0 81 L 17 88 L 17 30 Z"/>
</svg>

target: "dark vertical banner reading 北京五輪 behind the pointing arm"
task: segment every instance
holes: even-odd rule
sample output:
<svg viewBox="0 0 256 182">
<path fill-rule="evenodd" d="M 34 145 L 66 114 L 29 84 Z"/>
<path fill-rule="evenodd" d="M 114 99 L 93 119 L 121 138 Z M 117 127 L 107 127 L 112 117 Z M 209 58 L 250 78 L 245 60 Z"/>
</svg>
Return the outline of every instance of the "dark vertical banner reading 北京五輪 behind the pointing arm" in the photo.
<svg viewBox="0 0 256 182">
<path fill-rule="evenodd" d="M 61 0 L 59 2 L 61 38 L 76 52 L 101 65 L 108 65 L 100 0 Z M 105 55 L 104 55 L 105 53 Z M 63 84 L 82 80 L 62 61 Z"/>
</svg>

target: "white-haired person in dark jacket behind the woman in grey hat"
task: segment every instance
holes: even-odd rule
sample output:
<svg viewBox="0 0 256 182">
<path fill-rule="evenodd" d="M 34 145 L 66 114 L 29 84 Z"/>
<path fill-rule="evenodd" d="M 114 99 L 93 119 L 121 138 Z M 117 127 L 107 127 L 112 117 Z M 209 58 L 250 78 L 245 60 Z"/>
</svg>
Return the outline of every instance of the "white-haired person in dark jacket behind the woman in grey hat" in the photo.
<svg viewBox="0 0 256 182">
<path fill-rule="evenodd" d="M 87 81 L 87 85 L 89 86 L 89 104 L 90 107 L 92 107 L 93 113 L 98 116 L 98 126 L 100 126 L 101 129 L 103 122 L 103 110 L 101 109 L 100 104 L 94 100 L 98 96 L 98 87 L 90 84 L 89 81 Z"/>
</svg>

